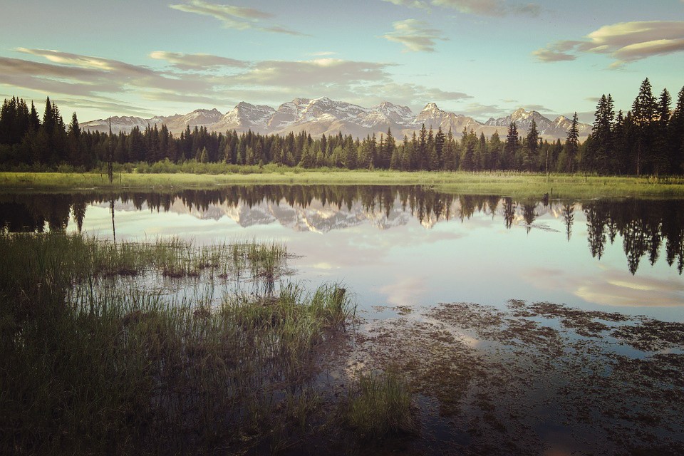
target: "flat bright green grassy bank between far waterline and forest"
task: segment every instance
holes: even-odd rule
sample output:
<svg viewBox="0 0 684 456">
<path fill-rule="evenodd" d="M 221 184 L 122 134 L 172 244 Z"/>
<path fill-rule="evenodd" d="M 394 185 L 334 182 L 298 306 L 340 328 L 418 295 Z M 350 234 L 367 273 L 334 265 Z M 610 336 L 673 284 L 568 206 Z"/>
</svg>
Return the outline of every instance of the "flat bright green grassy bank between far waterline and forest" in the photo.
<svg viewBox="0 0 684 456">
<path fill-rule="evenodd" d="M 218 165 L 220 166 L 220 165 Z M 684 197 L 682 177 L 603 177 L 517 172 L 400 172 L 303 170 L 267 166 L 231 167 L 222 172 L 118 172 L 112 184 L 103 173 L 1 172 L 0 191 L 78 189 L 215 188 L 234 184 L 427 185 L 450 193 L 512 197 Z M 150 171 L 150 169 L 147 169 Z"/>
</svg>

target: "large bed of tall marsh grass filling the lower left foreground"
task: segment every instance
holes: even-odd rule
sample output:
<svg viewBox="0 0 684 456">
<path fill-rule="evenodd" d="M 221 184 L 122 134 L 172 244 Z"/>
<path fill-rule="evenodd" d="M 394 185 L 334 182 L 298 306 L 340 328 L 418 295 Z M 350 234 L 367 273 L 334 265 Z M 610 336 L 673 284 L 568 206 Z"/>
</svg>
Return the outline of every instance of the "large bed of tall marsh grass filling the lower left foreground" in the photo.
<svg viewBox="0 0 684 456">
<path fill-rule="evenodd" d="M 354 312 L 344 289 L 214 304 L 112 279 L 236 262 L 274 275 L 285 257 L 278 244 L 0 235 L 0 453 L 272 452 L 313 433 L 318 353 Z"/>
</svg>

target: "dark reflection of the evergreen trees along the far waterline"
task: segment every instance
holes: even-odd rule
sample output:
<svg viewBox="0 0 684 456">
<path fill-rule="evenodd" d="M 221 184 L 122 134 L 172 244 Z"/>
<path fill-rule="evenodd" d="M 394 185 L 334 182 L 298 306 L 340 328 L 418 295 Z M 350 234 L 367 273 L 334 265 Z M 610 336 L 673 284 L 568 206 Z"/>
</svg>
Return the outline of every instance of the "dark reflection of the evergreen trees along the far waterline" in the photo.
<svg viewBox="0 0 684 456">
<path fill-rule="evenodd" d="M 450 195 L 409 185 L 234 185 L 219 190 L 124 191 L 113 195 L 104 192 L 6 194 L 0 195 L 0 224 L 5 232 L 61 231 L 73 219 L 80 232 L 88 205 L 109 203 L 115 234 L 115 202 L 156 212 L 168 212 L 172 204 L 179 202 L 188 210 L 199 212 L 218 205 L 242 204 L 252 208 L 264 203 L 307 208 L 313 202 L 350 212 L 360 204 L 364 211 L 381 214 L 386 219 L 393 209 L 409 212 L 425 226 L 451 219 L 466 222 L 474 214 L 491 214 L 492 219 L 501 217 L 506 229 L 524 222 L 528 233 L 539 214 L 551 211 L 561 214 L 568 242 L 575 212 L 581 210 L 586 217 L 592 257 L 601 259 L 606 244 L 613 244 L 619 234 L 632 274 L 644 257 L 655 264 L 663 244 L 668 265 L 676 263 L 680 274 L 684 269 L 684 201 L 678 199 L 596 199 L 580 204 L 571 200 L 549 202 L 543 196 L 516 200 L 497 195 Z"/>
</svg>

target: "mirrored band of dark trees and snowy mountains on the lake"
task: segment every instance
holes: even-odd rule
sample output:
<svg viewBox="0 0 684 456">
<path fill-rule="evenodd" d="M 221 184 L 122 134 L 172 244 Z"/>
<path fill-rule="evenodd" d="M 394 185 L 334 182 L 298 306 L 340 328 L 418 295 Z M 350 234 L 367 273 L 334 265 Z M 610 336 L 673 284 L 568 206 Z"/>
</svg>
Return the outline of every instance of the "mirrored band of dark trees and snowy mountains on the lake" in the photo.
<svg viewBox="0 0 684 456">
<path fill-rule="evenodd" d="M 185 212 L 202 219 L 228 215 L 242 227 L 279 223 L 296 231 L 331 232 L 372 224 L 378 229 L 417 219 L 425 229 L 440 222 L 471 223 L 475 214 L 500 220 L 505 229 L 554 230 L 540 216 L 561 219 L 570 242 L 576 213 L 586 219 L 591 257 L 601 259 L 606 246 L 621 239 L 626 265 L 636 274 L 643 259 L 655 264 L 665 247 L 665 261 L 684 269 L 684 202 L 681 200 L 598 199 L 586 202 L 518 201 L 497 195 L 449 195 L 420 186 L 232 186 L 220 190 L 0 195 L 0 224 L 6 232 L 65 230 L 71 220 L 80 232 L 90 205 L 109 205 L 112 234 L 118 210 Z M 618 241 L 619 242 L 619 241 Z"/>
</svg>

